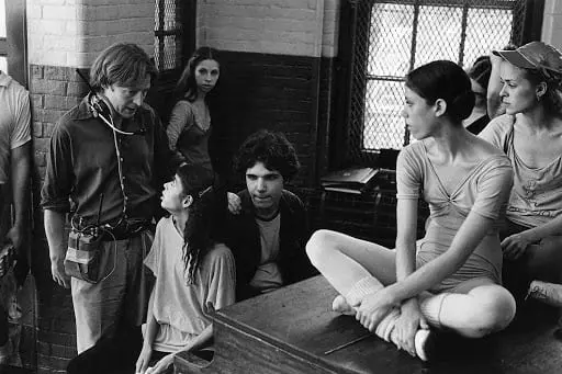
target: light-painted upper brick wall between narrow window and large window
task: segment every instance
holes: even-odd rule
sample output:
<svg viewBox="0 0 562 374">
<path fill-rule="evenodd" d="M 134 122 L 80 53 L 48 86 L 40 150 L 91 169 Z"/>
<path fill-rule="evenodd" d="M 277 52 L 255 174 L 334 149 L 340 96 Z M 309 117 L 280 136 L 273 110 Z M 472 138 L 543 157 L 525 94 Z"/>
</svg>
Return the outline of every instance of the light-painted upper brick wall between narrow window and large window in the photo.
<svg viewBox="0 0 562 374">
<path fill-rule="evenodd" d="M 319 56 L 323 0 L 198 2 L 198 41 L 249 53 Z"/>
</svg>

